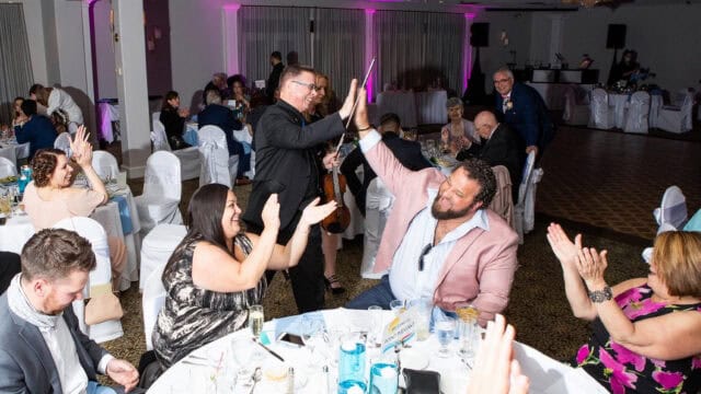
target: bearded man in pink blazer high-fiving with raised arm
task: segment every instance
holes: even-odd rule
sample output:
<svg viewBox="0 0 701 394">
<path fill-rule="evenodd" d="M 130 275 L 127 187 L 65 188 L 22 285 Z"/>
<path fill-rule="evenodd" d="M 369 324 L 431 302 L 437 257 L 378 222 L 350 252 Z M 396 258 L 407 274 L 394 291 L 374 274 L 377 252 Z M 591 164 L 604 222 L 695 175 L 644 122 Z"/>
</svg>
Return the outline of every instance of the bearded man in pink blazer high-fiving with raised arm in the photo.
<svg viewBox="0 0 701 394">
<path fill-rule="evenodd" d="M 470 159 L 449 177 L 436 169 L 410 171 L 370 126 L 364 101 L 355 123 L 360 149 L 395 200 L 375 263 L 387 275 L 346 306 L 389 309 L 392 300 L 430 298 L 455 311 L 471 302 L 484 325 L 508 303 L 518 247 L 516 232 L 487 208 L 496 189 L 492 169 Z"/>
</svg>

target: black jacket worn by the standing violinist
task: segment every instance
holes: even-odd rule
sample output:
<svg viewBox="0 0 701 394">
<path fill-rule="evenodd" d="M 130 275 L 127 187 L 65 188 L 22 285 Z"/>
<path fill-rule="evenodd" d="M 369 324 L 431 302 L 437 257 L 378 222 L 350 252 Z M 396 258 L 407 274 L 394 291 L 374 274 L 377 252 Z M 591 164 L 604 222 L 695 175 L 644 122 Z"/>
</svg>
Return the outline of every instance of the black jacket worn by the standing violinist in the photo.
<svg viewBox="0 0 701 394">
<path fill-rule="evenodd" d="M 283 243 L 297 227 L 300 209 L 318 196 L 317 146 L 345 131 L 337 113 L 310 125 L 303 119 L 299 111 L 280 100 L 265 111 L 253 137 L 255 178 L 243 220 L 254 229 L 262 229 L 263 206 L 271 194 L 277 193 L 280 204 L 278 241 Z"/>
</svg>

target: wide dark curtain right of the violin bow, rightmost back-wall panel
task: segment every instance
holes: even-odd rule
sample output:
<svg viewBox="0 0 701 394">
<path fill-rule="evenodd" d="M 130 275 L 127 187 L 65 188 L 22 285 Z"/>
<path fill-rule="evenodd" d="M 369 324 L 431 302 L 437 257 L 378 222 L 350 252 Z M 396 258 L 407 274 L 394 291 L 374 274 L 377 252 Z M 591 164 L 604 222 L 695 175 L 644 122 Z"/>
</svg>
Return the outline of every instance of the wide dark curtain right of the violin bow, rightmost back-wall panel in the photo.
<svg viewBox="0 0 701 394">
<path fill-rule="evenodd" d="M 379 90 L 426 88 L 440 78 L 460 90 L 464 16 L 436 12 L 377 11 L 375 14 Z"/>
</svg>

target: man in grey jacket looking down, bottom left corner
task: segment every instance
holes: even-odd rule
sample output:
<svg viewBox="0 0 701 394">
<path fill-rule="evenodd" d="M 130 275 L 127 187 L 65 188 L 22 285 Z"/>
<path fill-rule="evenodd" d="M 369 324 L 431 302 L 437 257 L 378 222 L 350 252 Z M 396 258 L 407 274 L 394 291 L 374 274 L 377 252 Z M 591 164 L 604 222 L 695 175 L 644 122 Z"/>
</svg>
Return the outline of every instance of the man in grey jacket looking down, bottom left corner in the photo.
<svg viewBox="0 0 701 394">
<path fill-rule="evenodd" d="M 22 248 L 22 273 L 0 297 L 0 392 L 129 392 L 139 372 L 80 331 L 71 303 L 83 298 L 96 266 L 90 243 L 72 231 L 47 229 Z M 123 387 L 101 386 L 97 373 Z"/>
</svg>

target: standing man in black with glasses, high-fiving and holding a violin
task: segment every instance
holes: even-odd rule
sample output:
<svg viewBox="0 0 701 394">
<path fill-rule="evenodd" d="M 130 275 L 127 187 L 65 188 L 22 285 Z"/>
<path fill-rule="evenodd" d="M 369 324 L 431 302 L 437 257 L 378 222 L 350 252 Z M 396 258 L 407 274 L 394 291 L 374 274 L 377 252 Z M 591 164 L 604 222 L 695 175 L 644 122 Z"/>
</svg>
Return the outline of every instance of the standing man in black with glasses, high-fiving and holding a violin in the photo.
<svg viewBox="0 0 701 394">
<path fill-rule="evenodd" d="M 243 215 L 248 230 L 263 230 L 261 211 L 271 194 L 277 193 L 280 204 L 280 231 L 277 242 L 286 244 L 297 228 L 302 210 L 320 195 L 317 147 L 345 131 L 343 119 L 350 115 L 357 81 L 341 109 L 307 125 L 302 112 L 317 96 L 314 70 L 288 66 L 280 76 L 280 100 L 267 108 L 258 120 L 254 135 L 255 178 L 249 206 Z M 323 158 L 331 167 L 336 154 Z M 289 269 L 292 292 L 300 313 L 320 310 L 324 305 L 323 256 L 321 231 L 311 228 L 307 248 L 299 264 Z M 268 277 L 269 279 L 269 277 Z"/>
</svg>

